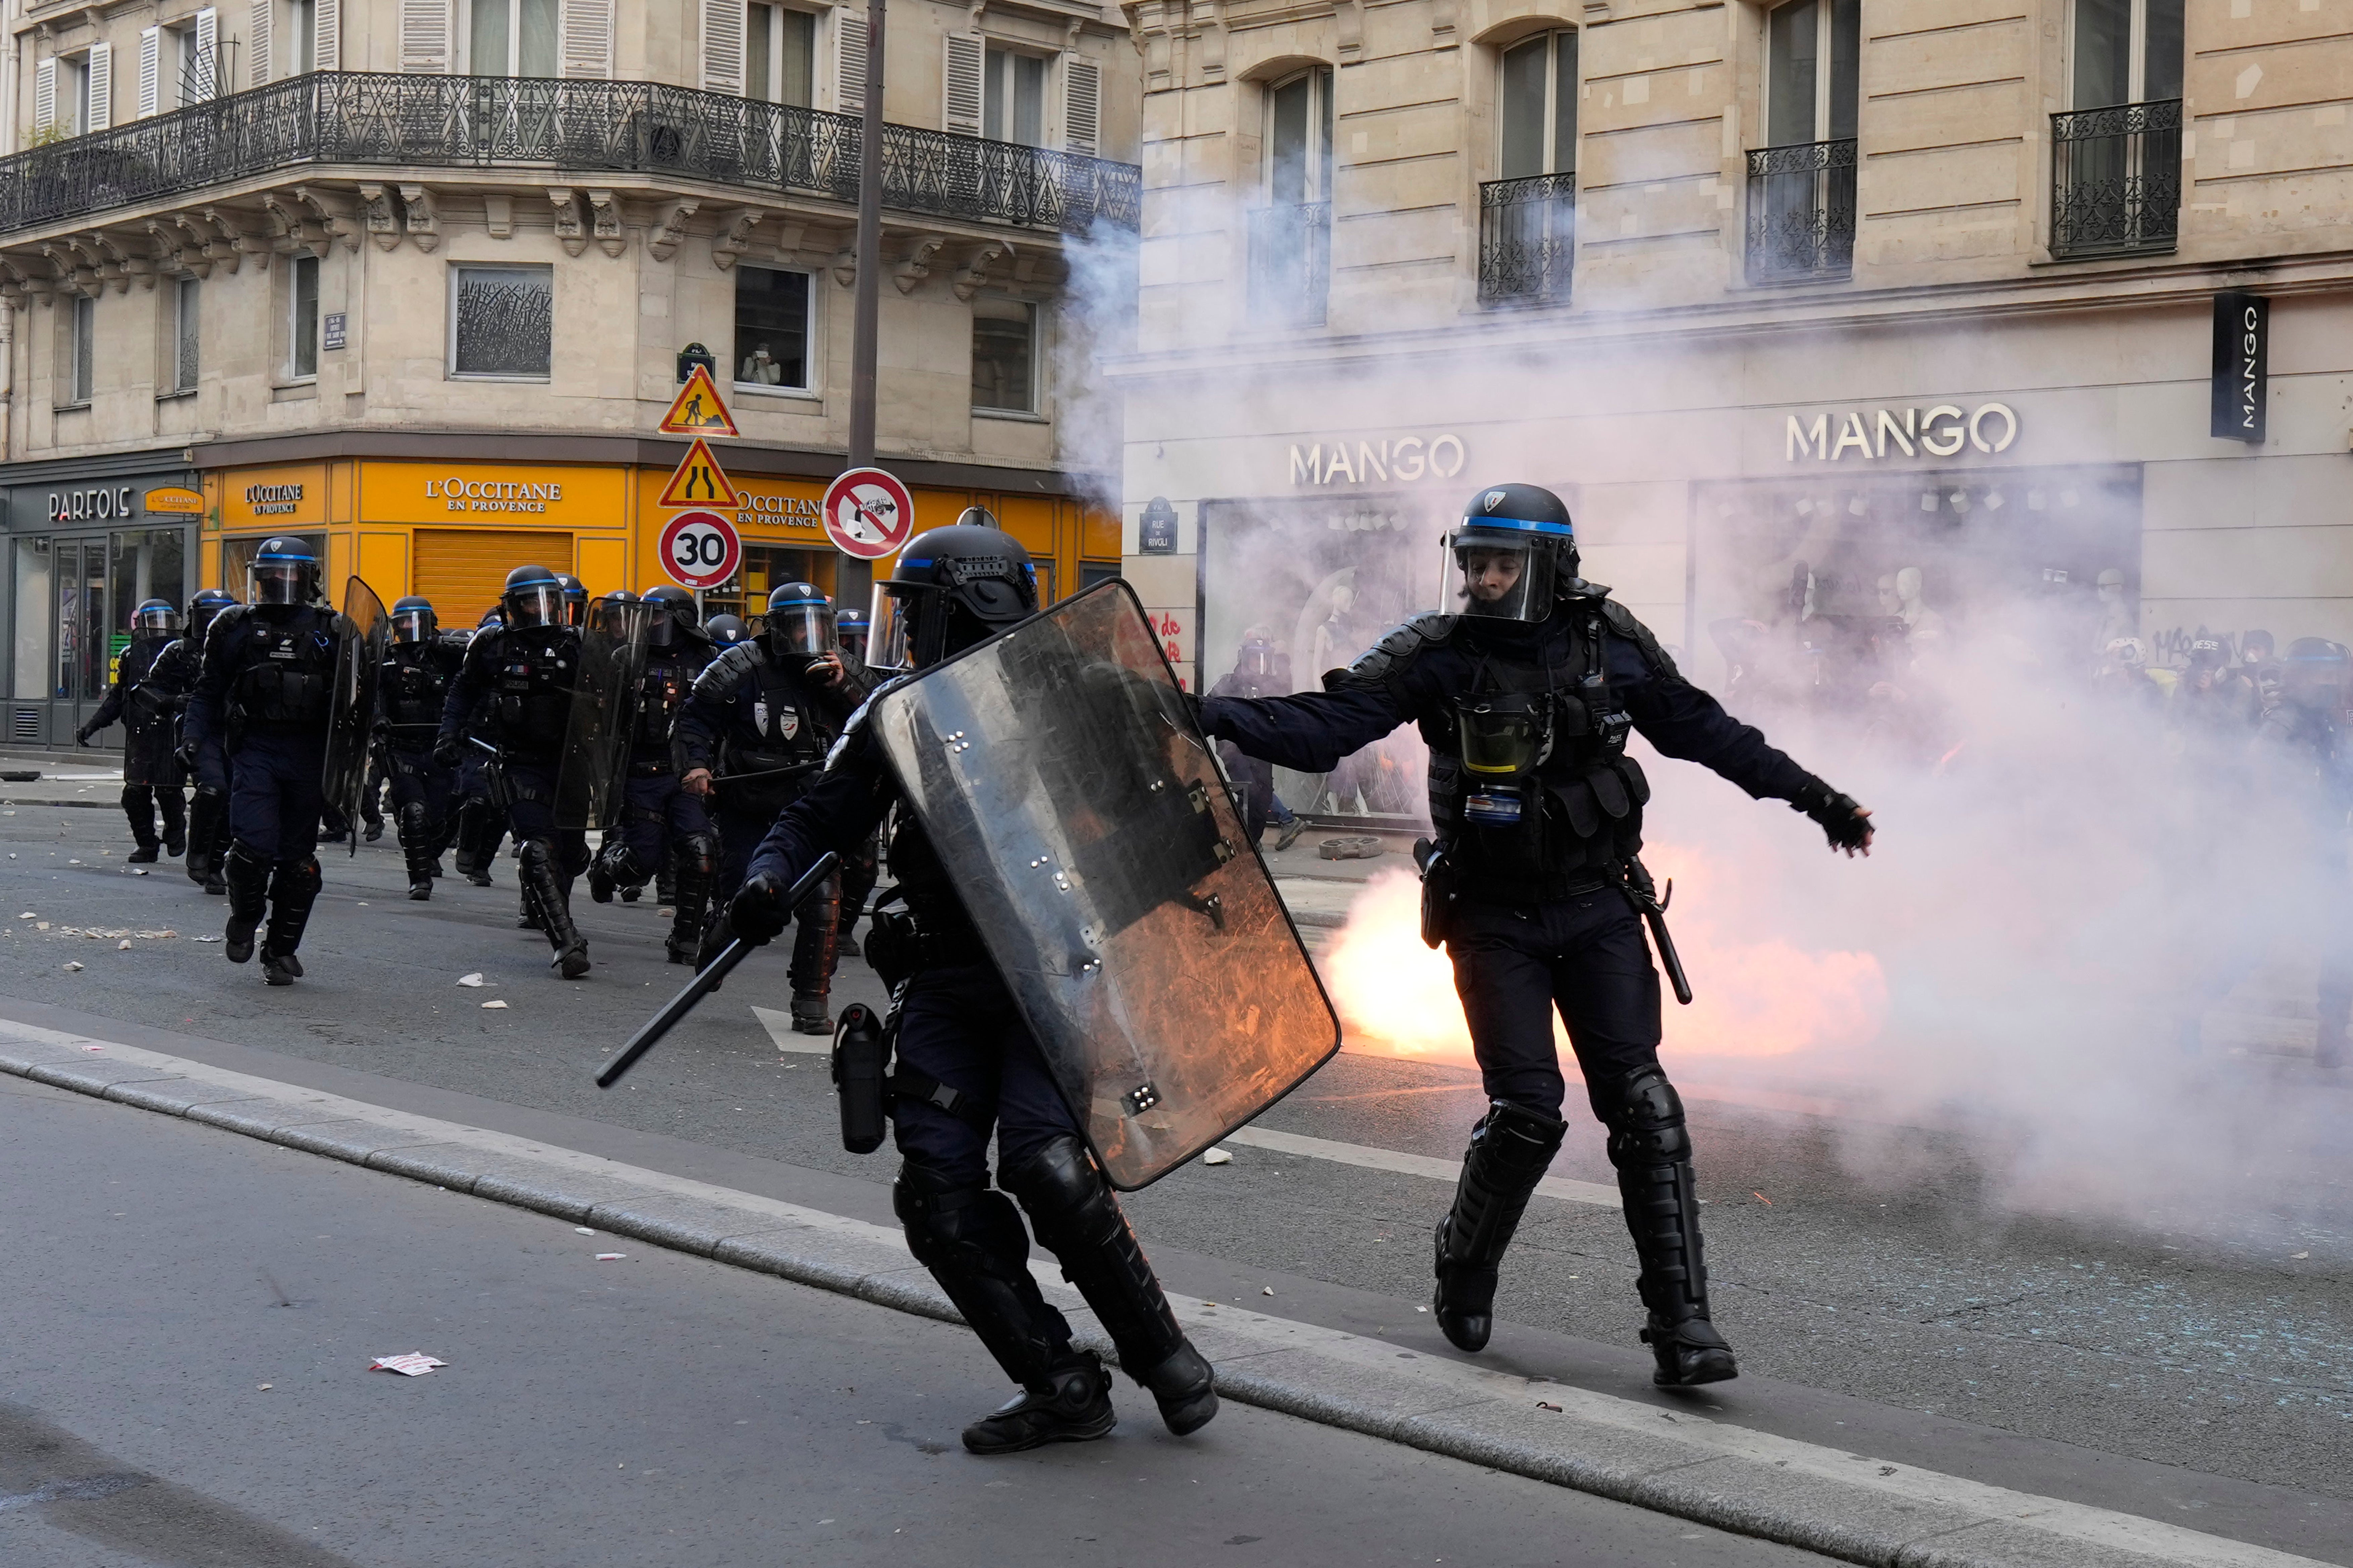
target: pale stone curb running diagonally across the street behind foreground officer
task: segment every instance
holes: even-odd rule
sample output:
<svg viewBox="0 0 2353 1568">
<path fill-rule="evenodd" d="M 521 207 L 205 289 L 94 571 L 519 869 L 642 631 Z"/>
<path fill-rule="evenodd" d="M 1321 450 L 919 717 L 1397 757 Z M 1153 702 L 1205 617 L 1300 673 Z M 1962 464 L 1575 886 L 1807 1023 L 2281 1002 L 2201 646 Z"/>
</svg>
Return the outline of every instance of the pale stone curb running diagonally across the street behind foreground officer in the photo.
<svg viewBox="0 0 2353 1568">
<path fill-rule="evenodd" d="M 264 1079 L 134 1046 L 87 1041 L 101 1046 L 92 1053 L 87 1044 L 66 1044 L 80 1037 L 28 1025 L 16 1030 L 16 1039 L 0 1039 L 0 1072 L 896 1312 L 960 1321 L 896 1232 L 880 1225 L 334 1095 L 256 1093 L 266 1088 Z M 1033 1267 L 1040 1286 L 1073 1316 L 1080 1345 L 1111 1359 L 1108 1338 L 1078 1293 L 1049 1262 Z M 1186 1316 L 1195 1345 L 1217 1363 L 1219 1392 L 1242 1403 L 1868 1568 L 2311 1563 L 2153 1519 L 1880 1465 L 1868 1455 L 1833 1453 L 1569 1385 L 1414 1356 L 1395 1345 L 1233 1305 L 1198 1302 L 1198 1312 Z"/>
</svg>

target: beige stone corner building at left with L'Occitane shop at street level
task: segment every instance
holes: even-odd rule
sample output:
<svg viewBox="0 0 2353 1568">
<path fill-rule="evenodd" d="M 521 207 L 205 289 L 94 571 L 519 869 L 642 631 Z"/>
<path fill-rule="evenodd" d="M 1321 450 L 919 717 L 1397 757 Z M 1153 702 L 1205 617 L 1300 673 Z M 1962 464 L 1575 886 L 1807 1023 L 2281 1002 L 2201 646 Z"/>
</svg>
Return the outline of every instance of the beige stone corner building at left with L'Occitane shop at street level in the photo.
<svg viewBox="0 0 2353 1568">
<path fill-rule="evenodd" d="M 242 590 L 273 531 L 449 621 L 522 559 L 664 581 L 656 423 L 704 355 L 746 543 L 706 609 L 864 595 L 814 505 L 864 9 L 16 0 L 7 28 L 7 738 L 71 741 L 118 611 Z M 1136 223 L 1136 52 L 1094 5 L 901 0 L 885 61 L 880 461 L 918 527 L 986 503 L 1068 592 L 1118 569 L 1115 451 L 1064 411 L 1073 247 Z"/>
</svg>

